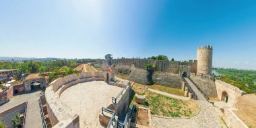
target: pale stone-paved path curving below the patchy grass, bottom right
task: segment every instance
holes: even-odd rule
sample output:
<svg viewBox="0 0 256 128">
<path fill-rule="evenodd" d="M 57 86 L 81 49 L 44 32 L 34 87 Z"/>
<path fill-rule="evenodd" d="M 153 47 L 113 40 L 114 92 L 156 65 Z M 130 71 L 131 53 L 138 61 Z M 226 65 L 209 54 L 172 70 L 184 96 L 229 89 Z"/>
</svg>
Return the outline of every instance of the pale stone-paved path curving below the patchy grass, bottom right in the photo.
<svg viewBox="0 0 256 128">
<path fill-rule="evenodd" d="M 194 128 L 194 127 L 204 127 L 204 128 L 220 128 L 221 120 L 216 114 L 214 106 L 209 102 L 198 101 L 201 111 L 195 117 L 190 119 L 164 119 L 159 117 L 152 117 L 153 127 L 174 127 L 174 128 Z"/>
</svg>

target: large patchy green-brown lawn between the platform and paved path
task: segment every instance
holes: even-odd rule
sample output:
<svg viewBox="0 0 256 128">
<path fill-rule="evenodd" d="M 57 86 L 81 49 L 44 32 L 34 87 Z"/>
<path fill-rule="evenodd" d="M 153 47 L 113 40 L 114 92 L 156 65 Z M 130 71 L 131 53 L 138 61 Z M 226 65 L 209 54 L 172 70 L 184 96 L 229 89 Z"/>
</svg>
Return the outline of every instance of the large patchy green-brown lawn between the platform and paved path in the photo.
<svg viewBox="0 0 256 128">
<path fill-rule="evenodd" d="M 137 104 L 135 95 L 130 97 L 130 105 L 151 109 L 152 115 L 162 117 L 193 117 L 199 113 L 199 105 L 195 100 L 177 100 L 146 90 L 146 86 L 135 84 L 132 90 L 137 94 L 146 94 L 146 104 Z"/>
</svg>

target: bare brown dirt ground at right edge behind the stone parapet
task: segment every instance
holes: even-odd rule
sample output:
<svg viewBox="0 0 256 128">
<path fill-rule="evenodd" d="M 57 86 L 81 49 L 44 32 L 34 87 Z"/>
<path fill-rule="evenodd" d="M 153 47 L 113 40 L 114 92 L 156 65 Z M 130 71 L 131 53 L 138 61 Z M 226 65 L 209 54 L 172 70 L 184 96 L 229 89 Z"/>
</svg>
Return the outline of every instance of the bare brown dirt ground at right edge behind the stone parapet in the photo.
<svg viewBox="0 0 256 128">
<path fill-rule="evenodd" d="M 233 112 L 248 126 L 256 127 L 256 94 L 238 97 L 238 110 Z"/>
</svg>

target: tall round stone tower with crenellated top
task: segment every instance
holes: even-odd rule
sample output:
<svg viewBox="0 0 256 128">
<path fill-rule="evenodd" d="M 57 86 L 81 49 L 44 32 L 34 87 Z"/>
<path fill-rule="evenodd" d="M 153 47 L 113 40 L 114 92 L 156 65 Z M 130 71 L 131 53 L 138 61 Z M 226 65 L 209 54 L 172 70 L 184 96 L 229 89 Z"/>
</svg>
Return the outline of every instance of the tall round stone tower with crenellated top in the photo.
<svg viewBox="0 0 256 128">
<path fill-rule="evenodd" d="M 212 46 L 199 46 L 197 49 L 197 73 L 212 75 Z"/>
</svg>

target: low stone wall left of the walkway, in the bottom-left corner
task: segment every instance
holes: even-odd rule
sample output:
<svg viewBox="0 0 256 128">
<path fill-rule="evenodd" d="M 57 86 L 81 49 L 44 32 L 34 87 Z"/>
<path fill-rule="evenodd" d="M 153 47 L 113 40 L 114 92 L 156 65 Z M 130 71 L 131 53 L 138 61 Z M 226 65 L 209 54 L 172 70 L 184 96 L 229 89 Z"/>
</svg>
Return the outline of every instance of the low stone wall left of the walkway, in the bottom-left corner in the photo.
<svg viewBox="0 0 256 128">
<path fill-rule="evenodd" d="M 0 112 L 1 115 L 1 121 L 7 125 L 7 127 L 12 128 L 13 123 L 11 119 L 17 114 L 17 113 L 24 113 L 26 108 L 27 102 L 23 102 L 22 104 L 18 104 L 17 106 L 13 106 L 12 108 L 9 108 L 7 110 L 3 110 Z"/>
</svg>

